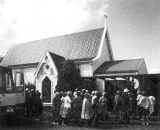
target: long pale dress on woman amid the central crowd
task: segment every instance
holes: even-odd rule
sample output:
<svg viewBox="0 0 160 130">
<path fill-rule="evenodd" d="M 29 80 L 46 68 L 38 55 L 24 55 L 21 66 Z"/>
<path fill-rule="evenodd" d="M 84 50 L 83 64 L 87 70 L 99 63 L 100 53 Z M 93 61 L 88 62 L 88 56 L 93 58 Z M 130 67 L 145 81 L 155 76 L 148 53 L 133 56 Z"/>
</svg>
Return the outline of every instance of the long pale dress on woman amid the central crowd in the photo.
<svg viewBox="0 0 160 130">
<path fill-rule="evenodd" d="M 82 119 L 90 119 L 90 107 L 91 107 L 90 101 L 87 98 L 84 98 L 82 104 L 82 113 L 81 113 Z"/>
</svg>

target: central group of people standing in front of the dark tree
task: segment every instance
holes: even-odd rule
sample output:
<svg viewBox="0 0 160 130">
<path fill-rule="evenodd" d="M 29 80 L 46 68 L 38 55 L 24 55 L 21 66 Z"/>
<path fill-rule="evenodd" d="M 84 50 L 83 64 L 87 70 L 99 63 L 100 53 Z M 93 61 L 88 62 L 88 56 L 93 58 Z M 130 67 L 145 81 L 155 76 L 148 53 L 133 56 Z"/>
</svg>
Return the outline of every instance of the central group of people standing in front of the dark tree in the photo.
<svg viewBox="0 0 160 130">
<path fill-rule="evenodd" d="M 104 123 L 108 120 L 107 94 L 103 92 L 100 96 L 98 91 L 89 94 L 88 90 L 68 92 L 56 92 L 52 102 L 52 115 L 59 124 L 98 125 L 99 117 Z M 101 115 L 101 116 L 100 116 Z"/>
</svg>

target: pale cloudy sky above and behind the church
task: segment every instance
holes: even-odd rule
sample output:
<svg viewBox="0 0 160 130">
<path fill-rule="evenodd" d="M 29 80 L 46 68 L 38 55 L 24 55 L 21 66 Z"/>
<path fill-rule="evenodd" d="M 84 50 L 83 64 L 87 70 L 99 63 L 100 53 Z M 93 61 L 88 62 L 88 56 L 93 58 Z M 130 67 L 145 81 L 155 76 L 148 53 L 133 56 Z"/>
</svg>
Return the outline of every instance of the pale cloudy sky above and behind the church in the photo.
<svg viewBox="0 0 160 130">
<path fill-rule="evenodd" d="M 104 27 L 114 60 L 160 73 L 160 0 L 0 0 L 0 55 L 14 44 Z"/>
</svg>

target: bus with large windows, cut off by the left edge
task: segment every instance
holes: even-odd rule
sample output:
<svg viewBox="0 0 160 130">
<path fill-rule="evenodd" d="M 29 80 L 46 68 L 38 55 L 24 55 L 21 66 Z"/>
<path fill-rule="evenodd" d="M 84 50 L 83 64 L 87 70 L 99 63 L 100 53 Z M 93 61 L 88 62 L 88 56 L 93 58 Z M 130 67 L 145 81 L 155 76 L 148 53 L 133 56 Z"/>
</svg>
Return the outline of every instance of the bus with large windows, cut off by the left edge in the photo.
<svg viewBox="0 0 160 130">
<path fill-rule="evenodd" d="M 24 103 L 23 73 L 12 74 L 10 68 L 0 66 L 0 117 L 24 113 Z"/>
</svg>

